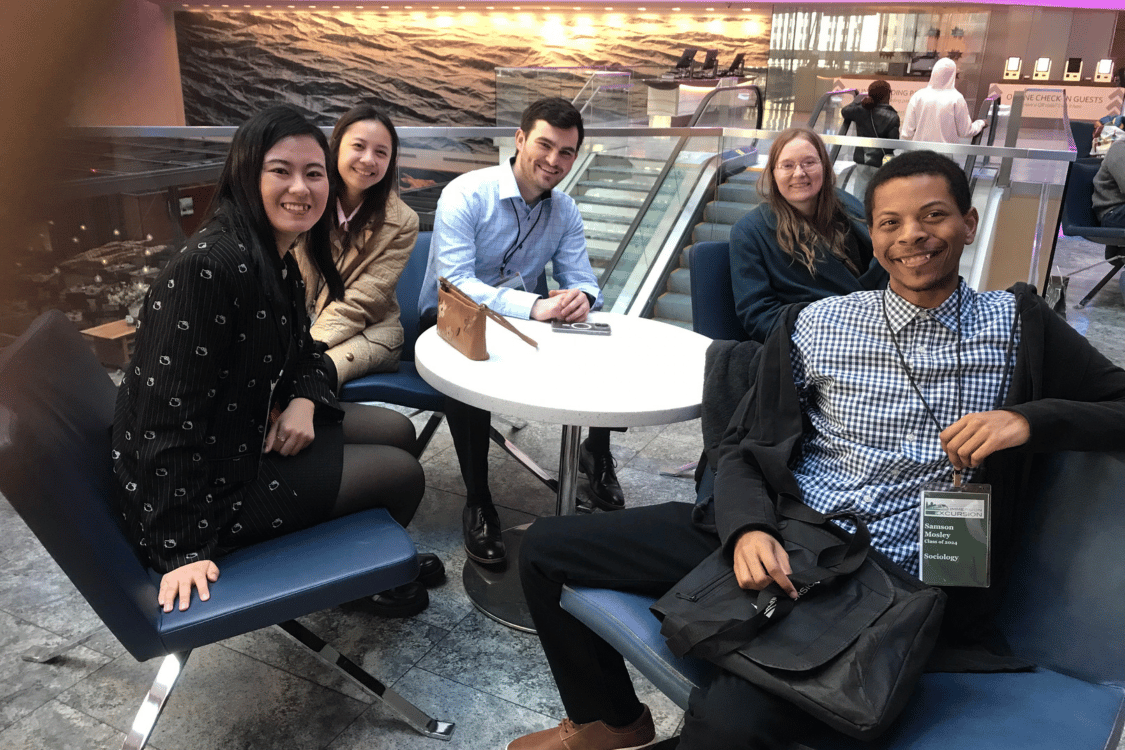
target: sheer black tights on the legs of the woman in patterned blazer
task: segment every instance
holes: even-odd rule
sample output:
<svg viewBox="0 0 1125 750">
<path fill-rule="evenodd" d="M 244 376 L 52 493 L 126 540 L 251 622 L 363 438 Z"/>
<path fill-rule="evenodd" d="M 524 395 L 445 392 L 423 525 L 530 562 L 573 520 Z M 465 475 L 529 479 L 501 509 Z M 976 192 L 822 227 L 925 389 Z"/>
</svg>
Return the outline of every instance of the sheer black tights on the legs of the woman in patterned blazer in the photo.
<svg viewBox="0 0 1125 750">
<path fill-rule="evenodd" d="M 387 508 L 402 526 L 414 517 L 425 493 L 425 475 L 414 458 L 414 425 L 378 406 L 341 404 L 344 464 L 330 517 Z"/>
</svg>

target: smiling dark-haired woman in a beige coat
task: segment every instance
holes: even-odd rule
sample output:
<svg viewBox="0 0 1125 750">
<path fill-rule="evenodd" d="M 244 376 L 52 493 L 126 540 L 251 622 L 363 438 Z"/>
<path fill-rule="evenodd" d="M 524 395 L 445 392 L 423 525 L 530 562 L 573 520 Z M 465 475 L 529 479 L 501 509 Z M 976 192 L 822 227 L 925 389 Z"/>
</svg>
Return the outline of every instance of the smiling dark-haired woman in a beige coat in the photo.
<svg viewBox="0 0 1125 750">
<path fill-rule="evenodd" d="M 369 372 L 398 369 L 403 326 L 395 286 L 414 249 L 418 217 L 398 197 L 398 134 L 385 114 L 370 105 L 353 107 L 336 123 L 330 143 L 338 178 L 332 255 L 344 282 L 343 299 L 330 301 L 304 256 L 300 272 L 314 319 L 310 333 L 327 347 L 330 380 L 335 374 L 339 389 Z"/>
</svg>

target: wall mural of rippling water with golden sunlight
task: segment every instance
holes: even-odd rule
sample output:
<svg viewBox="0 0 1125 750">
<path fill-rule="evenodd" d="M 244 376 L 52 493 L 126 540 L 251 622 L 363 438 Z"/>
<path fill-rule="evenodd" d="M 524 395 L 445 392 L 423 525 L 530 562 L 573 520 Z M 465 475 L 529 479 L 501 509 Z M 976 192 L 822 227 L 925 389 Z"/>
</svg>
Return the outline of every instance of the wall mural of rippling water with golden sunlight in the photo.
<svg viewBox="0 0 1125 750">
<path fill-rule="evenodd" d="M 496 67 L 670 69 L 684 47 L 765 67 L 770 15 L 550 12 L 176 13 L 188 125 L 236 125 L 290 102 L 331 125 L 360 100 L 398 125 L 490 126 Z M 703 53 L 696 55 L 702 62 Z"/>
</svg>

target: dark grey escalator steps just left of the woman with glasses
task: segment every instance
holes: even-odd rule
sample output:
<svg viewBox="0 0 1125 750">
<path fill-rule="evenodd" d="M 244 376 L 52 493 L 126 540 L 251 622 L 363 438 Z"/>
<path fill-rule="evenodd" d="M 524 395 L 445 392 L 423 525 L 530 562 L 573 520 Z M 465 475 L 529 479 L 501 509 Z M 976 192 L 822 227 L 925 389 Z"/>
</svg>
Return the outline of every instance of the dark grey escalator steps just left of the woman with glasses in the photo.
<svg viewBox="0 0 1125 750">
<path fill-rule="evenodd" d="M 719 186 L 714 200 L 703 208 L 702 220 L 692 231 L 692 244 L 730 240 L 730 228 L 762 200 L 758 170 L 732 174 Z M 652 318 L 682 328 L 692 327 L 692 278 L 688 270 L 692 245 L 680 251 L 680 265 L 668 275 L 668 283 L 652 308 Z"/>
</svg>

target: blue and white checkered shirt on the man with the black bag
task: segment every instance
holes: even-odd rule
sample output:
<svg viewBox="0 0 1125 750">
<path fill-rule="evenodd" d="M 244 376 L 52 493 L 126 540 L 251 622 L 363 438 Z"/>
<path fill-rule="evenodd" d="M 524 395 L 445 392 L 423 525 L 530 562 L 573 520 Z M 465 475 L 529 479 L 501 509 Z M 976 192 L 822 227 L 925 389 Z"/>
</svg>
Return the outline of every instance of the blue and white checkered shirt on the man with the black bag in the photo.
<svg viewBox="0 0 1125 750">
<path fill-rule="evenodd" d="M 821 513 L 856 513 L 872 544 L 917 575 L 921 486 L 950 481 L 953 469 L 939 430 L 902 371 L 883 318 L 884 295 L 902 355 L 943 430 L 962 414 L 1004 403 L 1019 323 L 1014 295 L 976 293 L 961 282 L 963 413 L 956 292 L 932 310 L 890 289 L 832 297 L 801 310 L 793 326 L 793 380 L 812 424 L 794 469 L 804 501 Z M 974 473 L 968 471 L 965 481 Z"/>
</svg>

